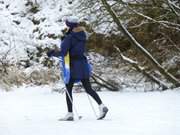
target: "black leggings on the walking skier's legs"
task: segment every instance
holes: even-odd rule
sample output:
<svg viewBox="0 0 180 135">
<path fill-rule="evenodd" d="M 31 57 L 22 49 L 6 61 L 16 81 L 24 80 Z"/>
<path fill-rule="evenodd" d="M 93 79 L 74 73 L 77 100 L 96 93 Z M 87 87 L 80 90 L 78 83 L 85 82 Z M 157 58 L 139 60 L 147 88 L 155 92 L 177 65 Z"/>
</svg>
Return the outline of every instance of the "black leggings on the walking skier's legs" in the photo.
<svg viewBox="0 0 180 135">
<path fill-rule="evenodd" d="M 66 89 L 67 89 L 67 92 L 69 93 L 71 99 L 73 99 L 73 98 L 72 98 L 72 88 L 73 88 L 74 82 L 75 82 L 74 79 L 70 79 L 69 83 L 66 84 Z M 92 89 L 89 79 L 82 79 L 81 82 L 82 82 L 82 85 L 83 85 L 83 87 L 85 88 L 86 92 L 87 92 L 99 105 L 102 104 L 102 101 L 101 101 L 99 95 Z M 73 110 L 72 110 L 72 109 L 73 109 L 73 108 L 72 108 L 72 103 L 71 103 L 71 100 L 69 99 L 69 96 L 68 96 L 67 93 L 66 93 L 66 102 L 67 102 L 68 112 L 72 112 L 72 111 L 73 111 Z"/>
</svg>

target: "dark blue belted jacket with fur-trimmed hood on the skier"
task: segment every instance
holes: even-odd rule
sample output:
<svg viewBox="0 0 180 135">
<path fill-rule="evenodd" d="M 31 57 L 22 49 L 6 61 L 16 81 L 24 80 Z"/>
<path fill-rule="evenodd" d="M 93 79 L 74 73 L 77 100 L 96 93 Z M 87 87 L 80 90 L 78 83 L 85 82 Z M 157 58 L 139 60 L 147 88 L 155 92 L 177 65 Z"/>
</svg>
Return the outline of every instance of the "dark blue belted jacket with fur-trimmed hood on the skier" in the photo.
<svg viewBox="0 0 180 135">
<path fill-rule="evenodd" d="M 60 56 L 70 55 L 70 78 L 75 80 L 90 77 L 90 65 L 84 55 L 86 50 L 86 33 L 82 27 L 74 28 L 61 42 Z"/>
</svg>

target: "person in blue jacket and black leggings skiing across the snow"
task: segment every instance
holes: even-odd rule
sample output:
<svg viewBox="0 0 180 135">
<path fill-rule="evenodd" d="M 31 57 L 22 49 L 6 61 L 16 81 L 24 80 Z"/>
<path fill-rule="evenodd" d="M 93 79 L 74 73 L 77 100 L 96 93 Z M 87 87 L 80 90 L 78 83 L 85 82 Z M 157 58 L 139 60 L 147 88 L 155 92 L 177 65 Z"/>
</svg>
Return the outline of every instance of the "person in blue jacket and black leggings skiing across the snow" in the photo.
<svg viewBox="0 0 180 135">
<path fill-rule="evenodd" d="M 87 57 L 85 56 L 85 48 L 87 36 L 85 28 L 79 25 L 79 20 L 75 16 L 71 16 L 65 21 L 66 26 L 68 27 L 68 32 L 61 42 L 61 49 L 59 55 L 65 57 L 67 53 L 70 56 L 70 79 L 66 84 L 66 103 L 68 113 L 61 120 L 73 121 L 73 105 L 72 105 L 72 89 L 73 85 L 77 81 L 81 81 L 85 91 L 97 102 L 99 105 L 100 115 L 98 119 L 103 119 L 107 112 L 108 108 L 103 104 L 101 98 L 95 92 L 90 84 L 91 70 L 88 64 Z M 53 52 L 54 55 L 57 55 L 57 52 Z M 53 55 L 52 52 L 48 56 Z"/>
</svg>

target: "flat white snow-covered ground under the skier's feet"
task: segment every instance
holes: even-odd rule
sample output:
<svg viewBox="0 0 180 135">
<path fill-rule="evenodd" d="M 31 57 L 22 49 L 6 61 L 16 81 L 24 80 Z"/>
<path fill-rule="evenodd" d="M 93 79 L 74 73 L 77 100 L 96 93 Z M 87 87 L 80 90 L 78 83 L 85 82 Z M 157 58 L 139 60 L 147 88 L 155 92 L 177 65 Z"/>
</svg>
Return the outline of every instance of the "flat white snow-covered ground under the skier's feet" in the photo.
<svg viewBox="0 0 180 135">
<path fill-rule="evenodd" d="M 0 135 L 179 135 L 180 92 L 99 92 L 110 109 L 97 121 L 85 93 L 74 93 L 82 120 L 62 122 L 64 95 L 48 87 L 0 92 Z M 94 106 L 97 105 L 93 102 Z M 96 110 L 98 111 L 98 110 Z"/>
</svg>

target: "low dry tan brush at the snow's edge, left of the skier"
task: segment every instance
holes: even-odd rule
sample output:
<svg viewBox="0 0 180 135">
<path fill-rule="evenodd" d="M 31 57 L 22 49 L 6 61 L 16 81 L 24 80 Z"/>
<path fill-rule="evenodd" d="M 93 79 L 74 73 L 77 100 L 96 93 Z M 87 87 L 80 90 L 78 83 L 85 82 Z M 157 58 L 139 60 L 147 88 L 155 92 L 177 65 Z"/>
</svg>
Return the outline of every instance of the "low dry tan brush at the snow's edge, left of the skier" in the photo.
<svg viewBox="0 0 180 135">
<path fill-rule="evenodd" d="M 0 88 L 6 91 L 13 86 L 45 85 L 55 83 L 60 79 L 58 68 L 49 69 L 40 67 L 38 69 L 19 69 L 17 66 L 7 67 L 7 73 L 0 72 Z"/>
</svg>

